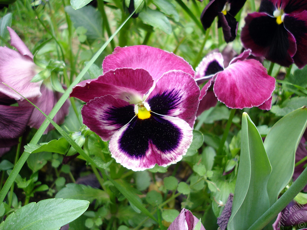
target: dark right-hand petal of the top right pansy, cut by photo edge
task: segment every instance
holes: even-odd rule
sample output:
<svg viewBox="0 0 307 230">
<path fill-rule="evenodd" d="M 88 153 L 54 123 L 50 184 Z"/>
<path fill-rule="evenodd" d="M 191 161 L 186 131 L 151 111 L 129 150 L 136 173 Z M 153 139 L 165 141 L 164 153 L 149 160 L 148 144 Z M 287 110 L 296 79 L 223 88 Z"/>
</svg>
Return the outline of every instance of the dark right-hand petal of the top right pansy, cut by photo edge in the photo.
<svg viewBox="0 0 307 230">
<path fill-rule="evenodd" d="M 286 15 L 284 26 L 296 40 L 297 49 L 293 60 L 297 67 L 301 69 L 307 64 L 307 11 Z"/>
</svg>

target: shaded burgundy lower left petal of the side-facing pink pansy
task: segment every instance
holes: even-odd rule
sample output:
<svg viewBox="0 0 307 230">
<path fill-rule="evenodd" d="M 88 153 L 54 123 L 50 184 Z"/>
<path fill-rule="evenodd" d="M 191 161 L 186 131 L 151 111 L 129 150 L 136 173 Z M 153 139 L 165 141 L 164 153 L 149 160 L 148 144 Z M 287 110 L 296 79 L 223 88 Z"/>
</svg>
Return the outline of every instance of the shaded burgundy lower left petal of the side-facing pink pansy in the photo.
<svg viewBox="0 0 307 230">
<path fill-rule="evenodd" d="M 212 84 L 213 84 L 213 79 L 209 80 L 200 90 L 200 97 L 199 97 L 200 102 L 196 113 L 196 117 L 198 117 L 205 110 L 216 106 L 217 98 L 213 92 Z"/>
</svg>

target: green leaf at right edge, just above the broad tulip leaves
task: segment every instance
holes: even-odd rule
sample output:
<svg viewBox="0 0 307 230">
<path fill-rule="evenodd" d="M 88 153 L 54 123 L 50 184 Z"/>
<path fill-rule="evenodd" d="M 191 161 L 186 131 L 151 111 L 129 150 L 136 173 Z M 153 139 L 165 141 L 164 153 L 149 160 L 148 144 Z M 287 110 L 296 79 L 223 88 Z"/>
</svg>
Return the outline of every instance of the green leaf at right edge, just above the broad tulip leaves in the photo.
<svg viewBox="0 0 307 230">
<path fill-rule="evenodd" d="M 286 116 L 304 105 L 307 105 L 307 97 L 293 97 L 282 102 L 282 105 L 273 105 L 270 111 L 277 116 Z"/>
</svg>

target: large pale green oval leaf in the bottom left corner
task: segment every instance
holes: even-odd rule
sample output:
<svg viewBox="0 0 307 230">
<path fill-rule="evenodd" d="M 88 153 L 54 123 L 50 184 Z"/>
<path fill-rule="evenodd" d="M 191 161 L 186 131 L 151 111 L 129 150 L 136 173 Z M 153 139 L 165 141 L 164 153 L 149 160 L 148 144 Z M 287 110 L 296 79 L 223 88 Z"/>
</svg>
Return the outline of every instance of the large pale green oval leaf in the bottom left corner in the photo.
<svg viewBox="0 0 307 230">
<path fill-rule="evenodd" d="M 84 213 L 90 203 L 72 199 L 46 199 L 29 203 L 10 214 L 0 230 L 58 230 Z"/>
</svg>

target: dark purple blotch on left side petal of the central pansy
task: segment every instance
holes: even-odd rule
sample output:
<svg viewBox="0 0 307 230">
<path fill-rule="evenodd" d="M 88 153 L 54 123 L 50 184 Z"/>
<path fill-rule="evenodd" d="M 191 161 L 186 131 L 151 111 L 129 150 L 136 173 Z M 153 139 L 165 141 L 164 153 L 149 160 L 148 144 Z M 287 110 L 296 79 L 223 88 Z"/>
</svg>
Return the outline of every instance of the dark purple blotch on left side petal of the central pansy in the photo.
<svg viewBox="0 0 307 230">
<path fill-rule="evenodd" d="M 127 105 L 119 108 L 112 106 L 106 109 L 105 113 L 100 115 L 100 118 L 107 124 L 124 126 L 134 116 L 134 105 Z"/>
</svg>

